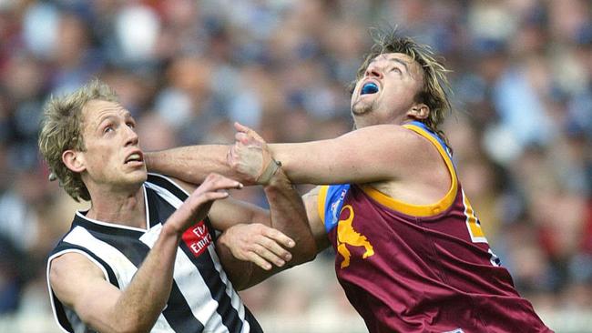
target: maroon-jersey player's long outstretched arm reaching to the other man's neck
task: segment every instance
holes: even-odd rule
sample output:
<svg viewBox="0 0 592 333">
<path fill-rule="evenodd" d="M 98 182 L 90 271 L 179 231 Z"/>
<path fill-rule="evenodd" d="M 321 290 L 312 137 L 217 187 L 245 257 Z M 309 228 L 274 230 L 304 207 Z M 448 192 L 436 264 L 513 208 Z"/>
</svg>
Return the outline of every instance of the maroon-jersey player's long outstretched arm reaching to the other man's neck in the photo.
<svg viewBox="0 0 592 333">
<path fill-rule="evenodd" d="M 247 126 L 235 124 L 237 143 L 252 142 L 259 137 Z M 262 140 L 262 139 L 261 139 Z M 264 141 L 263 141 L 264 142 Z M 148 153 L 149 170 L 199 183 L 209 172 L 240 180 L 244 184 L 261 184 L 256 176 L 267 166 L 257 163 L 230 167 L 226 161 L 233 146 L 184 146 Z M 257 153 L 260 148 L 250 145 Z M 259 150 L 258 150 L 259 149 Z M 294 144 L 270 144 L 271 155 L 294 184 L 371 183 L 415 177 L 417 168 L 425 165 L 424 154 L 433 149 L 424 138 L 396 125 L 368 126 L 328 140 Z M 246 152 L 246 151 L 245 151 Z M 244 158 L 244 157 L 243 157 Z M 439 162 L 438 159 L 435 159 Z M 430 162 L 434 163 L 434 162 Z M 240 167 L 257 167 L 258 172 L 240 173 Z M 244 171 L 244 170 L 242 170 Z"/>
</svg>

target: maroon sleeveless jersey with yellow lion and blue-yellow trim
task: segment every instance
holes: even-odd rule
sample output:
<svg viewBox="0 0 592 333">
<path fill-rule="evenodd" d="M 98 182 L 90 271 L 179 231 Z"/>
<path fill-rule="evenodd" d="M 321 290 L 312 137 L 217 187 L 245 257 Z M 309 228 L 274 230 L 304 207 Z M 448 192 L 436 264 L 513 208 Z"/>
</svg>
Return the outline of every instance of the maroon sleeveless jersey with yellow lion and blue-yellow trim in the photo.
<svg viewBox="0 0 592 333">
<path fill-rule="evenodd" d="M 319 214 L 335 270 L 370 332 L 549 332 L 489 248 L 444 142 L 418 122 L 452 177 L 439 202 L 418 206 L 373 187 L 321 187 Z"/>
</svg>

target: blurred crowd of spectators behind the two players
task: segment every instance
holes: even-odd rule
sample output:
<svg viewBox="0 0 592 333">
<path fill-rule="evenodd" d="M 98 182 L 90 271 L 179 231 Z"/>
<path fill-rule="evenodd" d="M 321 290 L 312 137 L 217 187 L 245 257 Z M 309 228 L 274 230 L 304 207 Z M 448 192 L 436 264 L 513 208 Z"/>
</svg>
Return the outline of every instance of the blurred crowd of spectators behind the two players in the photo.
<svg viewBox="0 0 592 333">
<path fill-rule="evenodd" d="M 46 256 L 85 208 L 37 151 L 48 96 L 104 80 L 145 150 L 231 143 L 233 121 L 269 142 L 339 136 L 375 25 L 443 55 L 444 133 L 491 247 L 551 328 L 592 331 L 588 0 L 0 0 L 0 330 L 56 330 L 27 318 L 49 318 Z M 269 331 L 364 331 L 330 251 L 242 295 Z"/>
</svg>

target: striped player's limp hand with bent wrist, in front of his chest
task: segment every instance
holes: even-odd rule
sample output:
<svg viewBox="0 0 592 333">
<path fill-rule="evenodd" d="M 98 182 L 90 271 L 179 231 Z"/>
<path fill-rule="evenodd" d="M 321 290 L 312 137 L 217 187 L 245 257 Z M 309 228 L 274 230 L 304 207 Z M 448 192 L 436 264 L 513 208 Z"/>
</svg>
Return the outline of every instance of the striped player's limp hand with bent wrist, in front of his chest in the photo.
<svg viewBox="0 0 592 333">
<path fill-rule="evenodd" d="M 208 216 L 214 201 L 229 196 L 230 188 L 242 188 L 240 182 L 218 175 L 209 174 L 201 185 L 185 200 L 170 217 L 167 224 L 181 234 L 188 227 Z"/>
</svg>

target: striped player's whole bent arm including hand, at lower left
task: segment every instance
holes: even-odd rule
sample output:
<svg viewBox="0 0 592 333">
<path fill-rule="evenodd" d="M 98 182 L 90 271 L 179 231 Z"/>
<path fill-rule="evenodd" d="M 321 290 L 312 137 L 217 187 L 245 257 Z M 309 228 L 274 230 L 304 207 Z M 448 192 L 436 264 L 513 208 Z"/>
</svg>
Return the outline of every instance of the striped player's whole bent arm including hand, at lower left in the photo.
<svg viewBox="0 0 592 333">
<path fill-rule="evenodd" d="M 183 231 L 195 220 L 206 217 L 214 200 L 228 197 L 228 193 L 220 190 L 236 187 L 240 187 L 237 181 L 217 175 L 207 177 L 168 217 L 154 247 L 125 290 L 109 284 L 87 257 L 75 253 L 56 257 L 49 271 L 56 297 L 98 331 L 148 332 L 170 294 Z M 155 271 L 160 273 L 155 275 Z"/>
</svg>

